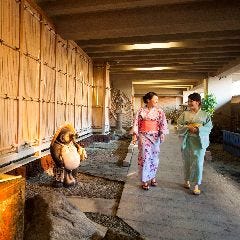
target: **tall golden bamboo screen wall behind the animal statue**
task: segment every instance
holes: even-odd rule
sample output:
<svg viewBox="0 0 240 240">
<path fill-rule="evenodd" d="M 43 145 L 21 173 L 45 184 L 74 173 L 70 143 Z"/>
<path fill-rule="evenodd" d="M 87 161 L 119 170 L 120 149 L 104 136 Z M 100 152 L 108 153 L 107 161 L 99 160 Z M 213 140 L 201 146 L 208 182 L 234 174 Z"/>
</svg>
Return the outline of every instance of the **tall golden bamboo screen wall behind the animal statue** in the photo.
<svg viewBox="0 0 240 240">
<path fill-rule="evenodd" d="M 0 12 L 0 156 L 41 147 L 66 121 L 90 131 L 89 57 L 27 0 L 0 0 Z"/>
</svg>

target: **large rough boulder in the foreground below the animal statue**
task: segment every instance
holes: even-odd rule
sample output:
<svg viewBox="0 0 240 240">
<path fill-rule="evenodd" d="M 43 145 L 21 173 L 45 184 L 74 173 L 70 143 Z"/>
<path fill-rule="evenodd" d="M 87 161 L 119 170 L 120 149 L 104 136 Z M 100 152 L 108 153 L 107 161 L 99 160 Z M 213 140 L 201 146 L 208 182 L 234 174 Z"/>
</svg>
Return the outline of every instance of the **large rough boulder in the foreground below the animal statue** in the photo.
<svg viewBox="0 0 240 240">
<path fill-rule="evenodd" d="M 95 223 L 61 194 L 43 190 L 25 204 L 25 240 L 102 239 Z"/>
</svg>

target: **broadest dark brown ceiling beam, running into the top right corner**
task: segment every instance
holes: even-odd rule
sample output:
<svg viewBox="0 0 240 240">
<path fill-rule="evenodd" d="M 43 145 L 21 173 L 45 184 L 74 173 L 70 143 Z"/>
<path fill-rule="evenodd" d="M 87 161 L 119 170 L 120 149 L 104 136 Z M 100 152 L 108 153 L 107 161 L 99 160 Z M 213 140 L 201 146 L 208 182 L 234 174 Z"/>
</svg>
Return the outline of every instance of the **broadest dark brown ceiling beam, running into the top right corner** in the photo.
<svg viewBox="0 0 240 240">
<path fill-rule="evenodd" d="M 54 22 L 64 38 L 87 40 L 239 30 L 239 15 L 239 1 L 206 1 L 64 15 Z"/>
</svg>

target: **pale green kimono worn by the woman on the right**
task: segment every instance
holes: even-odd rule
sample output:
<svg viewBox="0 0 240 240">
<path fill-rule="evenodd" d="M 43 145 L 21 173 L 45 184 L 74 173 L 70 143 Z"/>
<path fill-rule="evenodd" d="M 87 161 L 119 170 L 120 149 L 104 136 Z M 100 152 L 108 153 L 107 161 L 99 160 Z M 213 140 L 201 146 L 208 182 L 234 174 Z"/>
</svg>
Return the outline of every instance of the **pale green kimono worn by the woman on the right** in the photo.
<svg viewBox="0 0 240 240">
<path fill-rule="evenodd" d="M 189 124 L 197 126 L 198 133 L 190 133 L 186 127 Z M 197 113 L 185 111 L 178 118 L 177 125 L 184 162 L 184 180 L 200 185 L 204 156 L 212 129 L 211 118 L 201 109 Z"/>
</svg>

